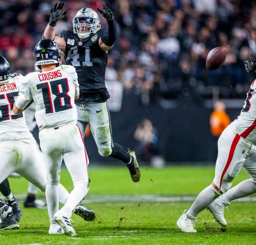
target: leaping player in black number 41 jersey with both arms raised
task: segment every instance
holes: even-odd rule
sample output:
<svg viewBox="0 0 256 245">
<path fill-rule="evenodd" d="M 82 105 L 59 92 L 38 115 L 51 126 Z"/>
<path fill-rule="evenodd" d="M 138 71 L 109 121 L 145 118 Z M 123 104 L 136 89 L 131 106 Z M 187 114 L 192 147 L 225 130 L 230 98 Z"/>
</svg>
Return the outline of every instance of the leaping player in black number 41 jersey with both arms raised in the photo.
<svg viewBox="0 0 256 245">
<path fill-rule="evenodd" d="M 100 18 L 90 8 L 83 8 L 73 19 L 73 31 L 63 30 L 55 36 L 57 21 L 67 13 L 61 11 L 61 2 L 51 9 L 51 18 L 43 38 L 57 42 L 65 53 L 67 65 L 76 68 L 80 85 L 80 98 L 76 101 L 78 126 L 84 135 L 87 123 L 101 156 L 111 156 L 122 160 L 130 171 L 134 182 L 139 181 L 141 172 L 134 151 L 127 152 L 123 146 L 112 141 L 112 132 L 106 101 L 109 98 L 105 86 L 107 51 L 113 47 L 117 38 L 117 27 L 113 12 L 103 6 L 98 9 L 107 20 L 107 28 L 100 29 Z"/>
</svg>

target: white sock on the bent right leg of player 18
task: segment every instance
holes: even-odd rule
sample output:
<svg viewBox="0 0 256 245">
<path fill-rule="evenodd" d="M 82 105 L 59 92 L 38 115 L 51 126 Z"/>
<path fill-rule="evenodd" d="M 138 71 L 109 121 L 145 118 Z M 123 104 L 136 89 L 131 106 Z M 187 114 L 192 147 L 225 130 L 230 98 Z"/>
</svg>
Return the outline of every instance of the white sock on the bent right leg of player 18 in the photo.
<svg viewBox="0 0 256 245">
<path fill-rule="evenodd" d="M 72 211 L 75 209 L 78 203 L 83 200 L 89 189 L 84 183 L 76 181 L 74 182 L 74 189 L 70 192 L 69 197 L 65 205 L 60 209 L 68 217 L 71 217 Z"/>
</svg>

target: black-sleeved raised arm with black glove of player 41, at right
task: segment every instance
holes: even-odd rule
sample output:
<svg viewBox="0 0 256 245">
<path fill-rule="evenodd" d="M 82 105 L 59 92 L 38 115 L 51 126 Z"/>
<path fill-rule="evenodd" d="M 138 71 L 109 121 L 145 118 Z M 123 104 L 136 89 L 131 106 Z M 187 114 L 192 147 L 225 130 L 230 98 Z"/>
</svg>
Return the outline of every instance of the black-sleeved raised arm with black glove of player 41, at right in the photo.
<svg viewBox="0 0 256 245">
<path fill-rule="evenodd" d="M 100 14 L 107 20 L 107 28 L 104 34 L 99 39 L 99 46 L 102 50 L 107 51 L 113 47 L 115 40 L 117 39 L 117 26 L 115 24 L 114 15 L 110 8 L 102 5 L 103 10 L 97 8 Z"/>
</svg>

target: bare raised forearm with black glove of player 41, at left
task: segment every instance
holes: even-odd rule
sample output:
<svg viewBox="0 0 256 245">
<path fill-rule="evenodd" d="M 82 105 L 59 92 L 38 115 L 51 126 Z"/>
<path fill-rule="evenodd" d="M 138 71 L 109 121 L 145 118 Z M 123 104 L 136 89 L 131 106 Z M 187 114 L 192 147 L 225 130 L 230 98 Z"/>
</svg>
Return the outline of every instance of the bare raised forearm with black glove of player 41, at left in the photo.
<svg viewBox="0 0 256 245">
<path fill-rule="evenodd" d="M 63 38 L 60 38 L 58 36 L 55 36 L 56 33 L 56 24 L 57 21 L 62 19 L 64 15 L 68 12 L 68 10 L 64 10 L 61 12 L 61 9 L 63 8 L 64 2 L 61 2 L 59 4 L 55 4 L 53 8 L 51 8 L 51 18 L 49 21 L 49 24 L 47 25 L 46 29 L 44 30 L 43 39 L 52 39 L 60 46 L 62 51 L 66 50 L 66 42 Z"/>
</svg>

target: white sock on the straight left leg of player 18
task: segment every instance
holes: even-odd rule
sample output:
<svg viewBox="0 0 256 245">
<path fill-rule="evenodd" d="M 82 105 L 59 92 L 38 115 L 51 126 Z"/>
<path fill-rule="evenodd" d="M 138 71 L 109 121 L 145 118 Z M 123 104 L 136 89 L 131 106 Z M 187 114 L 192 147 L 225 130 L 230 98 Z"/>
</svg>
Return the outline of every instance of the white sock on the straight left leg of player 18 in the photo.
<svg viewBox="0 0 256 245">
<path fill-rule="evenodd" d="M 46 197 L 50 222 L 52 224 L 53 222 L 55 222 L 53 216 L 59 209 L 58 186 L 46 185 L 45 197 Z"/>
</svg>

